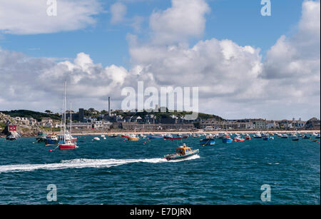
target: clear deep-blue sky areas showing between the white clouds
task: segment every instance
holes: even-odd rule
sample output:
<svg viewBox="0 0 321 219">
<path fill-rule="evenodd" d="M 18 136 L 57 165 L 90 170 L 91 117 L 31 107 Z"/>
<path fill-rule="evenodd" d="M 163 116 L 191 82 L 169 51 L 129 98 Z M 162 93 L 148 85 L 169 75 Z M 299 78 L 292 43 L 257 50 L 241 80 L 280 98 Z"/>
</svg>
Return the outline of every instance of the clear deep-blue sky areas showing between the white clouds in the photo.
<svg viewBox="0 0 321 219">
<path fill-rule="evenodd" d="M 96 16 L 95 26 L 78 31 L 54 34 L 11 35 L 4 34 L 0 45 L 3 49 L 21 51 L 35 57 L 75 58 L 79 52 L 90 54 L 103 66 L 116 64 L 130 67 L 128 33 L 135 34 L 128 24 L 111 24 L 109 8 L 116 1 L 103 2 L 105 13 Z M 206 29 L 200 39 L 230 39 L 240 46 L 261 48 L 263 55 L 282 35 L 291 35 L 300 20 L 302 1 L 272 1 L 272 16 L 261 16 L 260 0 L 210 0 L 210 14 L 206 15 Z M 126 17 L 143 16 L 142 29 L 148 29 L 148 17 L 153 10 L 170 7 L 170 0 L 137 1 L 129 3 Z M 138 33 L 148 37 L 147 31 Z M 190 40 L 190 45 L 200 39 Z M 59 44 L 59 46 L 57 46 Z"/>
</svg>

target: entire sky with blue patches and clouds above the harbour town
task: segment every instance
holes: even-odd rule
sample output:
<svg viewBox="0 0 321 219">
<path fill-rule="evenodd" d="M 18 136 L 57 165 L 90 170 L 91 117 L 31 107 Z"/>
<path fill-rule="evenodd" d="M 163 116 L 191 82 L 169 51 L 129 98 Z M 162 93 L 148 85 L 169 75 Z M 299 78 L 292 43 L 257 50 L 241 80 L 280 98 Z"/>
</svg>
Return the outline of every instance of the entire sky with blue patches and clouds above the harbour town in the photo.
<svg viewBox="0 0 321 219">
<path fill-rule="evenodd" d="M 43 0 L 0 4 L 0 110 L 121 108 L 138 81 L 199 88 L 223 118 L 320 117 L 320 0 Z M 179 102 L 179 101 L 178 101 Z M 59 104 L 58 104 L 59 103 Z"/>
</svg>

